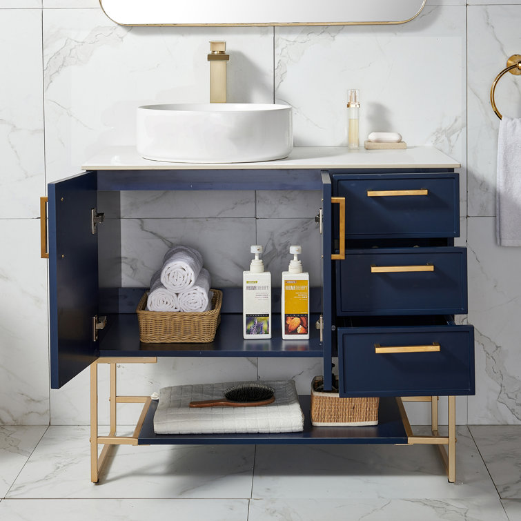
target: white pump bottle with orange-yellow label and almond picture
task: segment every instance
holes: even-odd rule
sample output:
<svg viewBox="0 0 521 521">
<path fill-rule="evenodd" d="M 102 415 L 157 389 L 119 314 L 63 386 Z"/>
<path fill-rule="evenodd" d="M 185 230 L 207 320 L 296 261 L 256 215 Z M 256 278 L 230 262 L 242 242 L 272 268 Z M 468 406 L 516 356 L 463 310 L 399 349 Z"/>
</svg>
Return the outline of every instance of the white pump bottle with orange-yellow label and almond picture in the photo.
<svg viewBox="0 0 521 521">
<path fill-rule="evenodd" d="M 288 271 L 282 272 L 282 338 L 307 340 L 309 338 L 309 273 L 302 271 L 298 255 L 302 246 L 290 246 L 293 255 Z"/>
</svg>

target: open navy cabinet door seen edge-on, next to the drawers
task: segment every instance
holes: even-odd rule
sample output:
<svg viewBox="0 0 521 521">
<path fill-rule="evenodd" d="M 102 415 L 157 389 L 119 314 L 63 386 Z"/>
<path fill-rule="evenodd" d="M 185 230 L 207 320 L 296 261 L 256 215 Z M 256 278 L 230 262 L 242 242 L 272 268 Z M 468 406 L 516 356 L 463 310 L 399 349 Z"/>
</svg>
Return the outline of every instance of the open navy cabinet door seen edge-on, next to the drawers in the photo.
<svg viewBox="0 0 521 521">
<path fill-rule="evenodd" d="M 333 385 L 331 364 L 333 362 L 333 298 L 332 262 L 333 252 L 333 211 L 331 209 L 331 177 L 328 172 L 322 172 L 322 352 L 324 357 L 324 390 L 331 391 Z"/>
</svg>

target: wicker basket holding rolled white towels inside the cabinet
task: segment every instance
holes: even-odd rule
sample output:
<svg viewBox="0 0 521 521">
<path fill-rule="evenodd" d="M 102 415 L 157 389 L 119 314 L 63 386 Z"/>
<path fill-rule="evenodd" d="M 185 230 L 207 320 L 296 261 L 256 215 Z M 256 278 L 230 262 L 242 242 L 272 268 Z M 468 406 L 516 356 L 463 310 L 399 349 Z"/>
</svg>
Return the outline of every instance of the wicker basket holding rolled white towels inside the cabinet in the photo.
<svg viewBox="0 0 521 521">
<path fill-rule="evenodd" d="M 213 291 L 212 309 L 201 313 L 145 311 L 148 293 L 137 304 L 139 340 L 150 344 L 212 342 L 221 320 L 222 291 Z"/>
</svg>

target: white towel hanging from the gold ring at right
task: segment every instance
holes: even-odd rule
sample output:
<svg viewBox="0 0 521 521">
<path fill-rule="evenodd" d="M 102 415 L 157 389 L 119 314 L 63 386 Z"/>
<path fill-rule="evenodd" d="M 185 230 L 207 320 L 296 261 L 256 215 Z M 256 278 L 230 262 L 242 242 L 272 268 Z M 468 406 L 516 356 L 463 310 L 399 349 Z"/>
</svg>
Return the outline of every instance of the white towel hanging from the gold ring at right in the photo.
<svg viewBox="0 0 521 521">
<path fill-rule="evenodd" d="M 495 229 L 499 246 L 521 246 L 521 119 L 503 116 L 498 137 Z"/>
</svg>

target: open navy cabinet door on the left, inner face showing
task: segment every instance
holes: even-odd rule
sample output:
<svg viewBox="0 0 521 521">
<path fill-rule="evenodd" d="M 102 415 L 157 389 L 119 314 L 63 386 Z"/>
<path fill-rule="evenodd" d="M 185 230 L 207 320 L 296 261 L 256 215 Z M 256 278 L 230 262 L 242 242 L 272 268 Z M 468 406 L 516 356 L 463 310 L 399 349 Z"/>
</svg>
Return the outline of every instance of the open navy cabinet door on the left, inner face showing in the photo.
<svg viewBox="0 0 521 521">
<path fill-rule="evenodd" d="M 98 243 L 92 233 L 97 176 L 48 185 L 50 386 L 58 389 L 97 358 L 92 317 L 98 307 Z"/>
</svg>

